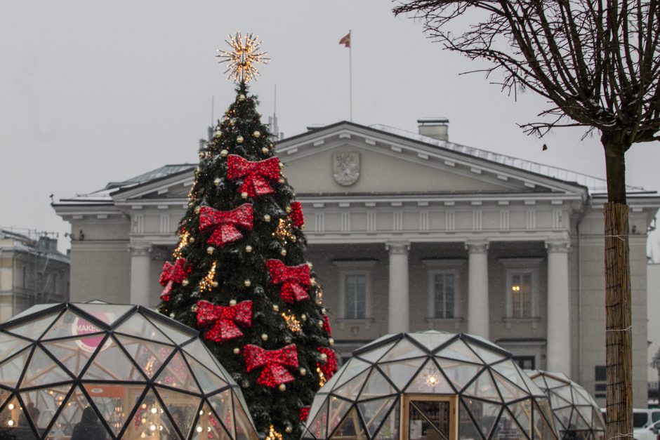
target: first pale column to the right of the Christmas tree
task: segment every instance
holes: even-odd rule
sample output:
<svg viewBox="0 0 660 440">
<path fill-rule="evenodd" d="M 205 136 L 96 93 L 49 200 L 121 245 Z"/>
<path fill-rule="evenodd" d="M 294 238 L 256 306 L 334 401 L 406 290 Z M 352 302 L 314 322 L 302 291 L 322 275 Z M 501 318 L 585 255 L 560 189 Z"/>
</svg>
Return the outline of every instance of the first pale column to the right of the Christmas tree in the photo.
<svg viewBox="0 0 660 440">
<path fill-rule="evenodd" d="M 390 294 L 388 297 L 388 333 L 410 330 L 408 295 L 407 243 L 388 244 L 390 251 Z"/>
</svg>

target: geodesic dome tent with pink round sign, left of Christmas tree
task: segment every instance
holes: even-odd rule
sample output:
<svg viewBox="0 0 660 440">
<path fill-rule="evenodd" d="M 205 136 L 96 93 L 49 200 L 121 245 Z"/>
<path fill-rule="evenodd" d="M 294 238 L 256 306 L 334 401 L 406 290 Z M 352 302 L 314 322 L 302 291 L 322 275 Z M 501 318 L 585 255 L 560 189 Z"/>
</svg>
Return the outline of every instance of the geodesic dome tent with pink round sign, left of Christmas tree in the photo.
<svg viewBox="0 0 660 440">
<path fill-rule="evenodd" d="M 257 439 L 197 335 L 140 306 L 27 309 L 0 324 L 0 424 L 19 439 Z"/>
</svg>

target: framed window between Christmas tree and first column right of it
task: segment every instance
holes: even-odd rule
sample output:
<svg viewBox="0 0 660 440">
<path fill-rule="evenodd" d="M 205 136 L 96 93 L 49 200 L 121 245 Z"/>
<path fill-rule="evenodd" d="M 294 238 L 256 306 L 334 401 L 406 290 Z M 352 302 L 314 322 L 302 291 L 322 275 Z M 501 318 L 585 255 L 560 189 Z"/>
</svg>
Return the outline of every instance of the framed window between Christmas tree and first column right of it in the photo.
<svg viewBox="0 0 660 440">
<path fill-rule="evenodd" d="M 343 319 L 371 318 L 371 267 L 376 260 L 334 260 L 339 267 L 339 308 Z"/>
</svg>

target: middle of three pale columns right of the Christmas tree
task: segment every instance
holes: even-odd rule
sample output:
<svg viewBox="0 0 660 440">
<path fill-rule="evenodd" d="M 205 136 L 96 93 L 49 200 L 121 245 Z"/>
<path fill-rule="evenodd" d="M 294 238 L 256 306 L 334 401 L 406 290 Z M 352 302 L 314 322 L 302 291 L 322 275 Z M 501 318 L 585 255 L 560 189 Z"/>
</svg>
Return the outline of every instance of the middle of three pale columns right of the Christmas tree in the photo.
<svg viewBox="0 0 660 440">
<path fill-rule="evenodd" d="M 468 251 L 468 333 L 489 339 L 488 244 L 466 243 Z"/>
</svg>

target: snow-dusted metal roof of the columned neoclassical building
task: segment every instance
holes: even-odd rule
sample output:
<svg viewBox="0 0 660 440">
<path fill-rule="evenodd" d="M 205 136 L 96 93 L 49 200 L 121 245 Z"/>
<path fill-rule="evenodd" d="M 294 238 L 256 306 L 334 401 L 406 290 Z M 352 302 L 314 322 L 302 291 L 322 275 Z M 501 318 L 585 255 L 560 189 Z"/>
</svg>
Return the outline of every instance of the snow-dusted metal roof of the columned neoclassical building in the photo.
<svg viewBox="0 0 660 440">
<path fill-rule="evenodd" d="M 359 126 L 359 124 L 355 124 L 355 123 L 350 123 L 350 124 Z M 338 125 L 338 124 L 333 124 L 333 125 Z M 327 127 L 319 127 L 319 128 L 327 128 Z M 425 145 L 428 145 L 429 147 L 447 149 L 451 152 L 458 152 L 461 154 L 466 154 L 468 156 L 477 157 L 482 160 L 491 161 L 496 164 L 502 164 L 523 171 L 528 171 L 529 173 L 543 175 L 548 178 L 561 180 L 562 182 L 575 183 L 577 185 L 586 187 L 589 191 L 589 194 L 591 195 L 607 193 L 607 181 L 603 178 L 594 177 L 593 175 L 577 173 L 576 171 L 570 171 L 565 168 L 548 166 L 513 156 L 507 156 L 506 154 L 489 152 L 485 149 L 468 147 L 466 145 L 461 145 L 454 142 L 439 140 L 439 139 L 431 138 L 429 136 L 420 135 L 418 133 L 413 133 L 411 131 L 405 131 L 402 130 L 401 128 L 386 126 L 383 124 L 373 124 L 366 128 L 370 128 L 371 130 L 374 131 L 380 131 L 382 133 L 388 133 L 390 135 L 395 135 L 400 138 L 407 138 L 409 140 L 421 142 Z M 298 138 L 308 133 L 301 133 L 291 138 L 287 138 L 278 142 L 284 142 L 287 140 L 291 140 L 293 138 Z M 166 178 L 168 176 L 175 175 L 178 173 L 184 173 L 186 171 L 190 171 L 196 166 L 197 164 L 170 164 L 170 165 L 161 166 L 159 168 L 155 168 L 152 171 L 148 171 L 147 173 L 137 175 L 133 178 L 121 182 L 110 182 L 103 189 L 99 189 L 98 191 L 91 192 L 88 194 L 77 194 L 76 196 L 71 197 L 69 199 L 60 199 L 59 202 L 60 204 L 62 203 L 66 204 L 67 202 L 69 203 L 83 202 L 86 204 L 95 204 L 95 203 L 107 204 L 112 201 L 111 194 L 121 189 L 128 189 L 130 187 L 143 184 L 145 182 L 151 182 L 153 180 Z M 642 187 L 626 185 L 626 188 L 628 189 L 628 194 L 649 193 L 647 190 L 645 190 Z"/>
</svg>

